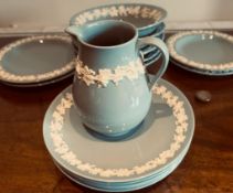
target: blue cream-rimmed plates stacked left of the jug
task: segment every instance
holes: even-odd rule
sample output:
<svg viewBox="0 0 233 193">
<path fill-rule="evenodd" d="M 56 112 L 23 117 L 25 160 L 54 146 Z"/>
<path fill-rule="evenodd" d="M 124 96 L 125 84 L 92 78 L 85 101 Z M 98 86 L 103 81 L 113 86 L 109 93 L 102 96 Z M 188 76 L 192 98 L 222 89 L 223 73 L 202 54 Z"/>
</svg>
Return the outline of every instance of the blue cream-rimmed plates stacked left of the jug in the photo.
<svg viewBox="0 0 233 193">
<path fill-rule="evenodd" d="M 24 37 L 0 50 L 0 82 L 17 87 L 47 85 L 72 76 L 74 65 L 70 37 Z"/>
</svg>

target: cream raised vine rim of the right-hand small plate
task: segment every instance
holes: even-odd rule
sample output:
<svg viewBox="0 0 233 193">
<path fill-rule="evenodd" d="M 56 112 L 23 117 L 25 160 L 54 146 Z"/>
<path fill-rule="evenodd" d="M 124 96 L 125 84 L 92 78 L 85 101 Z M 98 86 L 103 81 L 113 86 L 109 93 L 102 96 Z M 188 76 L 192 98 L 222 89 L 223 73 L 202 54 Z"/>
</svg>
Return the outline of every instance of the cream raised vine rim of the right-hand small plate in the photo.
<svg viewBox="0 0 233 193">
<path fill-rule="evenodd" d="M 176 42 L 179 39 L 182 39 L 183 36 L 187 35 L 212 35 L 212 36 L 219 36 L 221 39 L 224 39 L 231 43 L 233 43 L 233 36 L 229 35 L 229 34 L 224 34 L 224 33 L 220 33 L 216 31 L 188 31 L 188 32 L 180 32 L 177 33 L 174 35 L 172 35 L 171 37 L 168 39 L 167 41 L 167 45 L 168 45 L 168 50 L 170 55 L 176 58 L 177 61 L 181 62 L 184 65 L 188 65 L 190 67 L 193 68 L 199 68 L 199 69 L 203 69 L 203 71 L 209 71 L 209 72 L 218 72 L 218 71 L 233 71 L 233 62 L 230 63 L 222 63 L 222 64 L 206 64 L 206 63 L 199 63 L 199 62 L 194 62 L 192 60 L 189 60 L 182 55 L 180 55 L 179 53 L 177 53 L 176 51 Z"/>
</svg>

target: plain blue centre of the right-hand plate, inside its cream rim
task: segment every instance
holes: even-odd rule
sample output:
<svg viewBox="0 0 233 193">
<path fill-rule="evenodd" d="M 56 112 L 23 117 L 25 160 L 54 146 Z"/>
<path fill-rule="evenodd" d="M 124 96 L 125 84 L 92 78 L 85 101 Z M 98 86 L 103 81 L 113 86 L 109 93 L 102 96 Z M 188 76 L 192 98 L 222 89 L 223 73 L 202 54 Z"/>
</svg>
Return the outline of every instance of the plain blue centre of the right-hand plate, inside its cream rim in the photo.
<svg viewBox="0 0 233 193">
<path fill-rule="evenodd" d="M 176 42 L 178 54 L 198 63 L 223 64 L 233 61 L 233 44 L 210 34 L 192 34 Z"/>
</svg>

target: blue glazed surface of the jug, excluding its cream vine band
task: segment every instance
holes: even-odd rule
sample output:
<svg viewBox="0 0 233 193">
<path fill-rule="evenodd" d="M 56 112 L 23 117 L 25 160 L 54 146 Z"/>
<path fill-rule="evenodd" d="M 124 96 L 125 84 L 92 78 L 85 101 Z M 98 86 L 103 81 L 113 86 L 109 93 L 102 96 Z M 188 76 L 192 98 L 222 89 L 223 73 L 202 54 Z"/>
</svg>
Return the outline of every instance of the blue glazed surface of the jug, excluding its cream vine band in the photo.
<svg viewBox="0 0 233 193">
<path fill-rule="evenodd" d="M 84 26 L 70 26 L 66 32 L 77 36 L 78 57 L 83 64 L 95 72 L 125 66 L 139 57 L 138 32 L 129 23 L 105 20 Z M 104 41 L 113 43 L 114 40 L 119 39 L 123 42 L 107 46 L 89 43 L 93 39 L 102 39 L 103 34 Z M 142 42 L 144 40 L 140 40 L 140 43 Z M 163 64 L 157 74 L 156 79 L 158 79 L 167 68 L 168 52 L 162 42 L 151 43 L 151 40 L 147 40 L 147 44 L 156 44 L 165 53 Z M 87 86 L 75 75 L 73 97 L 83 124 L 109 137 L 125 135 L 138 126 L 151 104 L 151 93 L 144 74 L 134 81 L 124 78 L 118 85 L 109 82 L 106 87 L 98 87 L 96 84 Z"/>
</svg>

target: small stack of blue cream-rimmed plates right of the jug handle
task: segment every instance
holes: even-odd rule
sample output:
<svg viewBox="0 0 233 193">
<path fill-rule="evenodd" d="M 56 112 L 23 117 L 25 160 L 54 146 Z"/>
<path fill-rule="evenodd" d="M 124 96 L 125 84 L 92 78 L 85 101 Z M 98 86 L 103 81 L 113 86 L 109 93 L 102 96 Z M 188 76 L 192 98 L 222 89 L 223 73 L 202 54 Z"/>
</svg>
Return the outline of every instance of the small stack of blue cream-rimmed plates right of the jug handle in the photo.
<svg viewBox="0 0 233 193">
<path fill-rule="evenodd" d="M 233 36 L 216 31 L 186 31 L 167 45 L 173 64 L 202 75 L 233 74 Z"/>
</svg>

